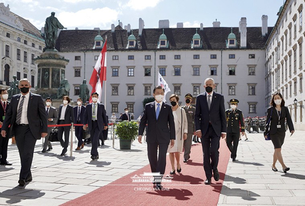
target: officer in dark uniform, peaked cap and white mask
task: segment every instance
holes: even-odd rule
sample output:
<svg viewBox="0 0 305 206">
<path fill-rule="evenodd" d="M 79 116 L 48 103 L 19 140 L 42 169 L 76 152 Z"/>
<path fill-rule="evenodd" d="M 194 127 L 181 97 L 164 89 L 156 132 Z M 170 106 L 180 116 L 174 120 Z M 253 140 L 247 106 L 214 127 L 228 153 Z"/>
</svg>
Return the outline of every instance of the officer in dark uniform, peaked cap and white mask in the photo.
<svg viewBox="0 0 305 206">
<path fill-rule="evenodd" d="M 231 152 L 232 161 L 236 161 L 237 146 L 239 141 L 239 123 L 241 128 L 241 136 L 245 135 L 245 124 L 243 123 L 242 111 L 237 109 L 237 99 L 231 99 L 231 109 L 226 110 L 227 118 L 227 146 Z M 232 145 L 233 142 L 233 145 Z"/>
</svg>

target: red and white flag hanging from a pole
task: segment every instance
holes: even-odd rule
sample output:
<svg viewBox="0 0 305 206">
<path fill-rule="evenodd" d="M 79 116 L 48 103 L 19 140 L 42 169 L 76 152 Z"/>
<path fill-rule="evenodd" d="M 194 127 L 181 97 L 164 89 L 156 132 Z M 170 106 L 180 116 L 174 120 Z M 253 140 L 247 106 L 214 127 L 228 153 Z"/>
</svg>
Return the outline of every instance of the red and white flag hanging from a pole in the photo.
<svg viewBox="0 0 305 206">
<path fill-rule="evenodd" d="M 94 67 L 94 70 L 92 72 L 89 84 L 92 86 L 92 93 L 98 93 L 99 99 L 98 102 L 101 102 L 102 99 L 102 87 L 103 87 L 103 81 L 106 81 L 106 66 L 107 66 L 107 39 L 105 41 L 105 44 L 103 46 L 103 49 L 100 53 L 100 56 L 98 58 L 98 61 Z M 92 102 L 92 98 L 90 97 L 89 102 Z"/>
</svg>

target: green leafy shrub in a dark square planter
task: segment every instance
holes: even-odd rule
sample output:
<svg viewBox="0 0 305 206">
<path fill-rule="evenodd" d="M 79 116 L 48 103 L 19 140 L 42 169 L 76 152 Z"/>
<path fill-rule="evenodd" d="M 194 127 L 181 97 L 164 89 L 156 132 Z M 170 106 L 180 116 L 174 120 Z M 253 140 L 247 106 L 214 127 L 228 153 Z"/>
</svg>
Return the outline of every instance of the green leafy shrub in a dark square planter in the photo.
<svg viewBox="0 0 305 206">
<path fill-rule="evenodd" d="M 130 150 L 131 142 L 136 140 L 139 126 L 136 122 L 122 121 L 116 124 L 114 134 L 119 137 L 119 149 Z"/>
</svg>

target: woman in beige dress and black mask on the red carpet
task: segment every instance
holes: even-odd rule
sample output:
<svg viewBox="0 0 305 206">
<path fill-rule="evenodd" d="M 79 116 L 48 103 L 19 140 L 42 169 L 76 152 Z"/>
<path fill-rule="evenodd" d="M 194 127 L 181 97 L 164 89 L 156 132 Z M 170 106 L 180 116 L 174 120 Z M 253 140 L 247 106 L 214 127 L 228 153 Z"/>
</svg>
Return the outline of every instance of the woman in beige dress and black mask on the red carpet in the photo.
<svg viewBox="0 0 305 206">
<path fill-rule="evenodd" d="M 168 146 L 167 152 L 169 153 L 169 159 L 172 166 L 170 174 L 174 174 L 176 171 L 175 159 L 177 161 L 177 172 L 181 172 L 180 153 L 183 149 L 183 142 L 188 137 L 188 120 L 186 111 L 184 109 L 181 109 L 181 107 L 178 105 L 179 97 L 173 94 L 169 97 L 169 101 L 172 105 L 174 115 L 176 139 L 175 144 L 172 148 L 170 148 L 170 145 Z"/>
</svg>

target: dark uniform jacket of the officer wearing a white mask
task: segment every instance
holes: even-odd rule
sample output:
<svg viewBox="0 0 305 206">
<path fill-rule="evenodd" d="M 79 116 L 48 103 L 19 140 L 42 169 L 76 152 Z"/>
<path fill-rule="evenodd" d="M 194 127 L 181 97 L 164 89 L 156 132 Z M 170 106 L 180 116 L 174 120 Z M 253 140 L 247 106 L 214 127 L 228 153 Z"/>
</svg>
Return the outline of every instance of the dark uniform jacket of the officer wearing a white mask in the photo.
<svg viewBox="0 0 305 206">
<path fill-rule="evenodd" d="M 228 133 L 239 133 L 239 125 L 241 132 L 245 132 L 245 124 L 243 123 L 243 115 L 241 110 L 235 109 L 235 112 L 233 112 L 232 109 L 227 109 L 226 116 Z"/>
</svg>

